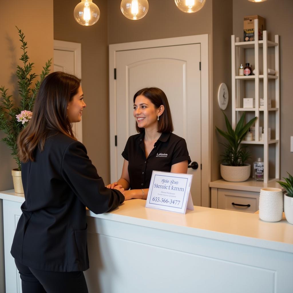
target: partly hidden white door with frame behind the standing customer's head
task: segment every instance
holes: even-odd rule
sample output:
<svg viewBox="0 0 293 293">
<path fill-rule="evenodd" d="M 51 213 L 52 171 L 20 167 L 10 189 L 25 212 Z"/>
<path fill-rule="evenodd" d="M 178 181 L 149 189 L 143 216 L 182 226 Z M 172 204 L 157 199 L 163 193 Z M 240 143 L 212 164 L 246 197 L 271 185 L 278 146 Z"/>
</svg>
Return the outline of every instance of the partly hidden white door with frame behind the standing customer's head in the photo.
<svg viewBox="0 0 293 293">
<path fill-rule="evenodd" d="M 81 44 L 54 40 L 54 71 L 63 71 L 81 78 Z M 73 123 L 73 132 L 82 142 L 82 121 Z"/>
</svg>

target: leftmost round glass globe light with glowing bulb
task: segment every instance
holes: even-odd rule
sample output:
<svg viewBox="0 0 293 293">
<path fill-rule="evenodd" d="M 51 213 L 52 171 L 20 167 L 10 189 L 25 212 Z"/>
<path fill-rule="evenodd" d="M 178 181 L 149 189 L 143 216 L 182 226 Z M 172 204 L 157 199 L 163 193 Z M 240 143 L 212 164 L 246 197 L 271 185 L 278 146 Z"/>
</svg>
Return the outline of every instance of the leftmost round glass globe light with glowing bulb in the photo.
<svg viewBox="0 0 293 293">
<path fill-rule="evenodd" d="M 93 0 L 81 0 L 74 8 L 75 20 L 85 26 L 95 24 L 100 18 L 100 9 Z"/>
</svg>

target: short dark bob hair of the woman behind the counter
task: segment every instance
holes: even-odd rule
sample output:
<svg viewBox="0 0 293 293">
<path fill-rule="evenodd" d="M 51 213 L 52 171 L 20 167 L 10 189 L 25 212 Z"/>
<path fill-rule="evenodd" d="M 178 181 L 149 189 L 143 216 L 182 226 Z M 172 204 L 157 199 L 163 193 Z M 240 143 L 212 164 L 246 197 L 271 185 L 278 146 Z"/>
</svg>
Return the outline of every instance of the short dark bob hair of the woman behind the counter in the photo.
<svg viewBox="0 0 293 293">
<path fill-rule="evenodd" d="M 133 103 L 135 103 L 136 97 L 140 95 L 149 99 L 155 105 L 156 109 L 160 108 L 161 105 L 163 105 L 165 108 L 163 114 L 160 116 L 160 120 L 158 121 L 158 132 L 173 132 L 174 127 L 171 110 L 166 94 L 160 88 L 143 88 L 135 93 L 133 97 Z M 137 122 L 135 122 L 135 128 L 139 133 L 144 132 L 144 128 L 139 128 L 137 126 Z"/>
</svg>

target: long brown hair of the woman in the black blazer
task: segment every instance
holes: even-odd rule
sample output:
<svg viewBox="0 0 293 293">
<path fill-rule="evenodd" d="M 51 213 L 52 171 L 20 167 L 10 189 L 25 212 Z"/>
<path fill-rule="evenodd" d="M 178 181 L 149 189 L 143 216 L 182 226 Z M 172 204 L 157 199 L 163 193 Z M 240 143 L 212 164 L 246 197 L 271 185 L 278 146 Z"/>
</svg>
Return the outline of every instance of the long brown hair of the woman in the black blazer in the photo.
<svg viewBox="0 0 293 293">
<path fill-rule="evenodd" d="M 17 139 L 22 162 L 34 161 L 34 150 L 43 151 L 52 130 L 74 137 L 67 118 L 68 102 L 77 94 L 81 80 L 61 71 L 52 72 L 42 81 L 33 108 L 33 117 Z"/>
</svg>

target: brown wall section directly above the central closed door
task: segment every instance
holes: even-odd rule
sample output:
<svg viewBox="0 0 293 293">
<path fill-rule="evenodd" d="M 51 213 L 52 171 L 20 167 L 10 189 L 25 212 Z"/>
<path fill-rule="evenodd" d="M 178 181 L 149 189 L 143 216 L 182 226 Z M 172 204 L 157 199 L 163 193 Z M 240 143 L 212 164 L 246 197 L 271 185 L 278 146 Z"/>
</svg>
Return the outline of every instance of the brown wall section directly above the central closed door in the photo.
<svg viewBox="0 0 293 293">
<path fill-rule="evenodd" d="M 120 0 L 108 0 L 109 44 L 212 33 L 212 1 L 197 13 L 180 11 L 174 1 L 149 0 L 147 15 L 132 21 L 122 15 Z"/>
</svg>

